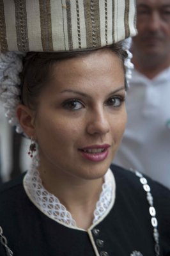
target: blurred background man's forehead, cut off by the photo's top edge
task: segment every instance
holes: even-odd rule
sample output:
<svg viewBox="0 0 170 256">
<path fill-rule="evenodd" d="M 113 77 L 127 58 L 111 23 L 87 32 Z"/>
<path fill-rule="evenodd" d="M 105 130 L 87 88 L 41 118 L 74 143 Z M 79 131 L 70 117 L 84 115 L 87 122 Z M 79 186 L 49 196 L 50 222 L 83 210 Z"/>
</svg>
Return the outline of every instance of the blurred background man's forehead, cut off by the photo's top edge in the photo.
<svg viewBox="0 0 170 256">
<path fill-rule="evenodd" d="M 137 7 L 148 6 L 150 8 L 162 8 L 170 6 L 170 0 L 137 0 Z"/>
</svg>

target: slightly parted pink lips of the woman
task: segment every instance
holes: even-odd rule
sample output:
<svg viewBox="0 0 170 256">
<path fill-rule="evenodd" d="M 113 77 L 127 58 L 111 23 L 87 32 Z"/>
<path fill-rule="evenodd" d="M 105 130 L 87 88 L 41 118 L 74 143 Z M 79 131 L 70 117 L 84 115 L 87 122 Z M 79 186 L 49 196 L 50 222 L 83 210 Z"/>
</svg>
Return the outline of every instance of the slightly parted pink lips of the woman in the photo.
<svg viewBox="0 0 170 256">
<path fill-rule="evenodd" d="M 84 158 L 93 162 L 103 161 L 109 154 L 109 144 L 93 145 L 79 149 Z"/>
</svg>

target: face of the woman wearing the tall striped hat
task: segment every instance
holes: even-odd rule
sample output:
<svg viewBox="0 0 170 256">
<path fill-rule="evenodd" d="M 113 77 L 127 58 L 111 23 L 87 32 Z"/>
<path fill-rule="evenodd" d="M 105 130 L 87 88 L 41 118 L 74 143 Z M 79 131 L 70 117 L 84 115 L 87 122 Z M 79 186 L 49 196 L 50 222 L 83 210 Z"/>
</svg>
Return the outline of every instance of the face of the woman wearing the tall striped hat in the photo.
<svg viewBox="0 0 170 256">
<path fill-rule="evenodd" d="M 127 114 L 123 67 L 109 50 L 60 61 L 40 94 L 35 119 L 42 168 L 79 179 L 102 177 Z"/>
</svg>

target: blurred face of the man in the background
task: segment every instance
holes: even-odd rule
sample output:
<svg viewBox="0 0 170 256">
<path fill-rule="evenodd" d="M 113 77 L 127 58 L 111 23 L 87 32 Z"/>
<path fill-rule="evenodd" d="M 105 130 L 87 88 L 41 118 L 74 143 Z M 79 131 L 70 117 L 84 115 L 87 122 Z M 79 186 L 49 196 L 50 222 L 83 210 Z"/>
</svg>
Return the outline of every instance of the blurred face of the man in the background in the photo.
<svg viewBox="0 0 170 256">
<path fill-rule="evenodd" d="M 137 0 L 137 30 L 134 51 L 146 56 L 170 52 L 170 0 Z"/>
</svg>

